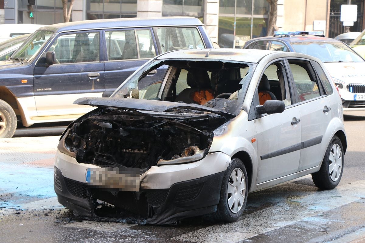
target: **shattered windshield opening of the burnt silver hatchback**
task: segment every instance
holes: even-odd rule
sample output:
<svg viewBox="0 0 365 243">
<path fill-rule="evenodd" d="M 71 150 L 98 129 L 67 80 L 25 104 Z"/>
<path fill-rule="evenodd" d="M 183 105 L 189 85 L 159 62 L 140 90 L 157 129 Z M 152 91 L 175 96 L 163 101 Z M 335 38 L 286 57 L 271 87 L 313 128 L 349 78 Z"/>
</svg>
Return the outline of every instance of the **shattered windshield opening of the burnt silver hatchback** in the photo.
<svg viewBox="0 0 365 243">
<path fill-rule="evenodd" d="M 151 80 L 162 65 L 168 66 L 164 79 Z M 113 97 L 203 105 L 238 114 L 254 67 L 220 60 L 155 60 L 127 79 Z"/>
</svg>

